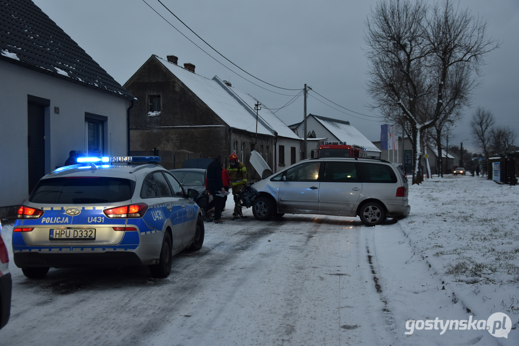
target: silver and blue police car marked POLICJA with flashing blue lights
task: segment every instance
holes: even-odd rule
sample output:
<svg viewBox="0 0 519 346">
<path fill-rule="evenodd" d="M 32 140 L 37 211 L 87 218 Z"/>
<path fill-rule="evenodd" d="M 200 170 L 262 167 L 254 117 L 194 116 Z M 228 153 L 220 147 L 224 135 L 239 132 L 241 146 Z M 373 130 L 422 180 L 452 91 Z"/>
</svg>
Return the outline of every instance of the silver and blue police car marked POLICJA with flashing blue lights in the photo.
<svg viewBox="0 0 519 346">
<path fill-rule="evenodd" d="M 185 191 L 160 157 L 78 158 L 45 175 L 18 209 L 15 264 L 28 278 L 50 267 L 149 266 L 165 278 L 172 256 L 204 239 L 198 191 Z"/>
</svg>

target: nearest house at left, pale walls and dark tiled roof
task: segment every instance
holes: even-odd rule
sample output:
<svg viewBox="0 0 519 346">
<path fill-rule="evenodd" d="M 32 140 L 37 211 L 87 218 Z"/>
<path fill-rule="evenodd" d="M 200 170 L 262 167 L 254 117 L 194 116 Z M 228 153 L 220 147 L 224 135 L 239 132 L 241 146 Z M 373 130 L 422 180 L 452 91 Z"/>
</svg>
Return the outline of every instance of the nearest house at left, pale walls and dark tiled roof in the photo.
<svg viewBox="0 0 519 346">
<path fill-rule="evenodd" d="M 71 150 L 124 156 L 133 96 L 39 7 L 0 2 L 0 216 Z"/>
</svg>

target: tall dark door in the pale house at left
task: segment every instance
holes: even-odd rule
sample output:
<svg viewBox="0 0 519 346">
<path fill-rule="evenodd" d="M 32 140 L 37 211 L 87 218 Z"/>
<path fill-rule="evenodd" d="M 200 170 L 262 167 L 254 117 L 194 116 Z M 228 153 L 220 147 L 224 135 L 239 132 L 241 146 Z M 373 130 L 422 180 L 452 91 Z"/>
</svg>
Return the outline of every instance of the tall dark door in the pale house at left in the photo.
<svg viewBox="0 0 519 346">
<path fill-rule="evenodd" d="M 45 106 L 27 104 L 29 193 L 45 175 Z"/>
</svg>

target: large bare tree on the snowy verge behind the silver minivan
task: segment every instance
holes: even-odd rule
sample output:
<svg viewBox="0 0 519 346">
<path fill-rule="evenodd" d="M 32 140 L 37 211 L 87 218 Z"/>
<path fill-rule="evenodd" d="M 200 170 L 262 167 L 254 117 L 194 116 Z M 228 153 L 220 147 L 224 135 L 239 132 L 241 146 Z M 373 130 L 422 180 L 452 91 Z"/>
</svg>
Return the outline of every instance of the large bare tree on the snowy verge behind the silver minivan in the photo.
<svg viewBox="0 0 519 346">
<path fill-rule="evenodd" d="M 419 184 L 421 136 L 469 103 L 477 85 L 472 76 L 498 43 L 487 38 L 485 22 L 449 0 L 432 11 L 422 0 L 381 0 L 366 27 L 367 90 L 387 121 L 405 123 Z"/>
</svg>

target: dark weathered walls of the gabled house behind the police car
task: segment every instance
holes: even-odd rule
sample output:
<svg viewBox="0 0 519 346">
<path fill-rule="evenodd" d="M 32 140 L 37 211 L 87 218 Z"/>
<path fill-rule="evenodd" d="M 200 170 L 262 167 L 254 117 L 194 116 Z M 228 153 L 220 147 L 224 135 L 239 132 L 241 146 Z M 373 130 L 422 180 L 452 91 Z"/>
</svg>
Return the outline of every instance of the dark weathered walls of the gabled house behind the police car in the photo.
<svg viewBox="0 0 519 346">
<path fill-rule="evenodd" d="M 244 163 L 248 164 L 250 144 L 255 134 L 231 129 L 211 108 L 171 74 L 155 59 L 149 59 L 125 84 L 125 88 L 139 102 L 130 110 L 130 147 L 133 154 L 153 153 L 157 148 L 161 165 L 166 169 L 181 168 L 188 158 L 213 158 L 220 156 L 227 165 L 233 152 L 233 142 L 238 142 L 238 157 L 244 144 Z M 161 114 L 148 116 L 148 95 L 160 95 Z M 258 144 L 269 145 L 272 157 L 272 138 L 258 135 Z M 272 159 L 268 164 L 272 164 Z"/>
</svg>

